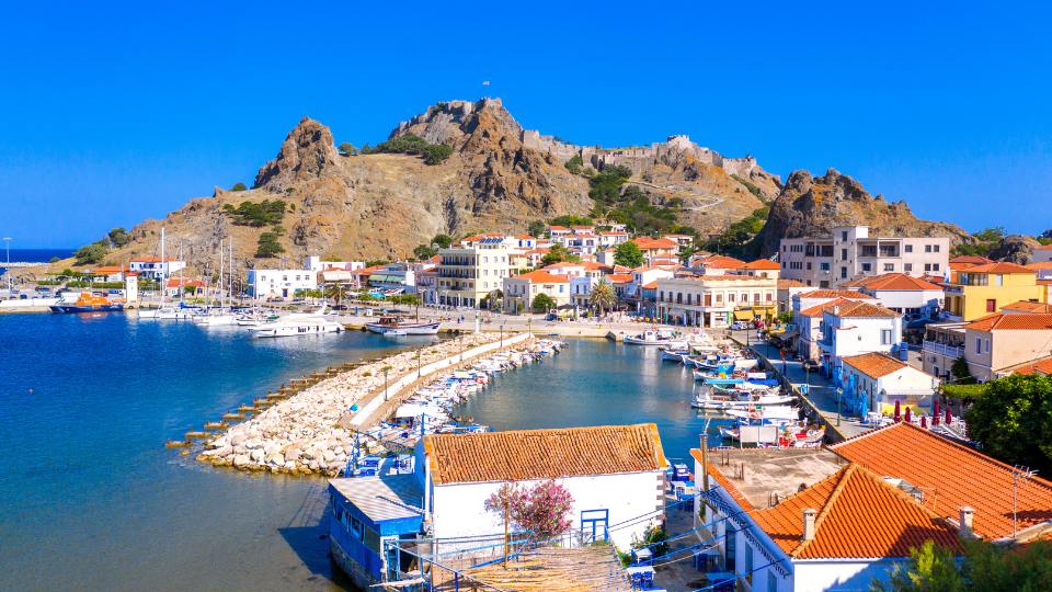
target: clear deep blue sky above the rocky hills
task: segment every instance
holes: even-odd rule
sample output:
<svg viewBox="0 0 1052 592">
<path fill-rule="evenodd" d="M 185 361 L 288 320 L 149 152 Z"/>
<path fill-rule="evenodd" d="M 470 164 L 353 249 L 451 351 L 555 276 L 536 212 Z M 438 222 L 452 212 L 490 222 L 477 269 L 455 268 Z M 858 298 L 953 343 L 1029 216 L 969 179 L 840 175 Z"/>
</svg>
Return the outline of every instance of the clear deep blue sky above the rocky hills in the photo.
<svg viewBox="0 0 1052 592">
<path fill-rule="evenodd" d="M 1052 227 L 1048 3 L 152 4 L 5 5 L 13 247 L 251 184 L 302 115 L 361 146 L 483 94 L 581 144 L 685 133 L 782 178 L 834 167 L 969 230 Z"/>
</svg>

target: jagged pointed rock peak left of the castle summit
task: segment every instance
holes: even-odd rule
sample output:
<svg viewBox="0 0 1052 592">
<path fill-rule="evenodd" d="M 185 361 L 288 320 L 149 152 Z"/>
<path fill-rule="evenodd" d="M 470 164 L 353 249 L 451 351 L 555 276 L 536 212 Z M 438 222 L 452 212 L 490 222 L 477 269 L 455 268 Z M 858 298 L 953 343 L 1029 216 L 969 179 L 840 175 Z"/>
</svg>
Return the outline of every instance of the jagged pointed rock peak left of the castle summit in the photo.
<svg viewBox="0 0 1052 592">
<path fill-rule="evenodd" d="M 298 182 L 321 178 L 335 164 L 339 155 L 328 127 L 304 117 L 288 133 L 274 160 L 255 175 L 255 187 L 282 192 Z"/>
</svg>

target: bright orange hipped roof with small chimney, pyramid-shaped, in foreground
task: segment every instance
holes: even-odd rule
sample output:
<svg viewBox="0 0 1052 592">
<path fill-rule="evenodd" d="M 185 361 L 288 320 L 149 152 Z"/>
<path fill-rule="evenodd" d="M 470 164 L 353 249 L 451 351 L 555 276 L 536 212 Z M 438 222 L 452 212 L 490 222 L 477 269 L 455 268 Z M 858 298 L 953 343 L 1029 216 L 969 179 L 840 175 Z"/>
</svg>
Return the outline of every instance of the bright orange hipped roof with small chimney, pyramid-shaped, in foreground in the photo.
<svg viewBox="0 0 1052 592">
<path fill-rule="evenodd" d="M 803 540 L 803 511 L 813 509 L 814 538 Z M 931 539 L 960 549 L 957 530 L 877 474 L 850 464 L 753 520 L 798 559 L 907 557 Z"/>
</svg>

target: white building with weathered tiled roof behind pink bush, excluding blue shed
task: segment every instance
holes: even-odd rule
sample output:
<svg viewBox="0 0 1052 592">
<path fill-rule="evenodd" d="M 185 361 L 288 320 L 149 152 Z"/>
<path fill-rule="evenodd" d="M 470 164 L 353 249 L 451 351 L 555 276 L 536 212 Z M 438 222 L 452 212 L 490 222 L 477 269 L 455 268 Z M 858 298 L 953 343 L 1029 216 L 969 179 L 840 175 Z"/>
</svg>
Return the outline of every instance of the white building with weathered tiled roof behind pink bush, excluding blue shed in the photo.
<svg viewBox="0 0 1052 592">
<path fill-rule="evenodd" d="M 574 531 L 621 549 L 664 520 L 668 463 L 653 423 L 427 435 L 415 454 L 436 538 L 503 533 L 503 516 L 485 511 L 487 499 L 504 483 L 549 479 L 573 497 Z"/>
</svg>

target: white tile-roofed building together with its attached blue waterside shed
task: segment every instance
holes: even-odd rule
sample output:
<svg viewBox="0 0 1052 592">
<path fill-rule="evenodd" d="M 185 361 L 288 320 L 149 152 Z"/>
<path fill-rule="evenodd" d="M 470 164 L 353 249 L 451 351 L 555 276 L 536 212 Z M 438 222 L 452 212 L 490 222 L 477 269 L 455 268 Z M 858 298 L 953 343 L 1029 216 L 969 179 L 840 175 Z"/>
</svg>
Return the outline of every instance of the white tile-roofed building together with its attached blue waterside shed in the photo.
<svg viewBox="0 0 1052 592">
<path fill-rule="evenodd" d="M 330 553 L 359 587 L 421 577 L 433 557 L 420 549 L 499 540 L 503 520 L 484 504 L 504 483 L 564 487 L 575 540 L 628 548 L 665 517 L 668 462 L 652 423 L 432 434 L 413 465 L 411 474 L 330 480 Z"/>
</svg>

